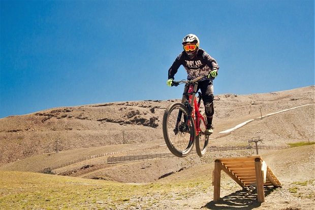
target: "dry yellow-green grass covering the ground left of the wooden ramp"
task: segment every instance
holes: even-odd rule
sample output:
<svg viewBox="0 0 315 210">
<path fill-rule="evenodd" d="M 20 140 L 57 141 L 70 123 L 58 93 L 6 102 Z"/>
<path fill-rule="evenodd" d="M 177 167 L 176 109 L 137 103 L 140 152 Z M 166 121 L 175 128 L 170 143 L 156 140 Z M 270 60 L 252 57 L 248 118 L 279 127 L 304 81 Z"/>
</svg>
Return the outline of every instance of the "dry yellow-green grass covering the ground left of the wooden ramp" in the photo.
<svg viewBox="0 0 315 210">
<path fill-rule="evenodd" d="M 152 208 L 161 199 L 180 200 L 199 190 L 209 190 L 210 183 L 186 180 L 121 184 L 41 173 L 0 171 L 0 184 L 3 209 L 130 209 L 132 206 Z"/>
</svg>

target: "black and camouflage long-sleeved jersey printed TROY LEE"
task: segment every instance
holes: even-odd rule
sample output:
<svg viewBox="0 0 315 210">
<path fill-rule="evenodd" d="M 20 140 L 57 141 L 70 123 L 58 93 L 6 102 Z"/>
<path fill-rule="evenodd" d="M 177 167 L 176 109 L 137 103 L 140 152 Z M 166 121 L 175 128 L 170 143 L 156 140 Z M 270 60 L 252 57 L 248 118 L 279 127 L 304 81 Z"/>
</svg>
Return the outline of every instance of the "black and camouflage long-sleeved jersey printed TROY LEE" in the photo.
<svg viewBox="0 0 315 210">
<path fill-rule="evenodd" d="M 185 51 L 182 51 L 169 69 L 168 79 L 174 79 L 174 75 L 180 65 L 183 65 L 188 74 L 187 79 L 195 79 L 200 76 L 209 75 L 213 67 L 219 68 L 217 62 L 206 51 L 199 49 L 197 55 L 192 59 L 188 57 Z M 210 77 L 210 80 L 213 80 Z"/>
</svg>

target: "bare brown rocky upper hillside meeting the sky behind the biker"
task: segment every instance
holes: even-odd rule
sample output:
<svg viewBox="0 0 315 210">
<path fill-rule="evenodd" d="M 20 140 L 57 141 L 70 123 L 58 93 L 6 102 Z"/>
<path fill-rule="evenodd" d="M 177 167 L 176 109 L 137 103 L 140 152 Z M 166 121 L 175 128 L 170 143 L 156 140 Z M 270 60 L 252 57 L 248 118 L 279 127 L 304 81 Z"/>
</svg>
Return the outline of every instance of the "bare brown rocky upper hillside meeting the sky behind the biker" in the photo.
<svg viewBox="0 0 315 210">
<path fill-rule="evenodd" d="M 0 119 L 0 165 L 34 155 L 107 145 L 160 144 L 165 108 L 179 101 L 125 101 L 63 107 Z M 314 86 L 287 91 L 216 95 L 213 138 L 246 120 L 314 104 Z M 247 129 L 248 126 L 250 129 Z M 314 106 L 256 120 L 213 146 L 246 144 L 261 136 L 263 144 L 285 144 L 314 138 Z"/>
</svg>

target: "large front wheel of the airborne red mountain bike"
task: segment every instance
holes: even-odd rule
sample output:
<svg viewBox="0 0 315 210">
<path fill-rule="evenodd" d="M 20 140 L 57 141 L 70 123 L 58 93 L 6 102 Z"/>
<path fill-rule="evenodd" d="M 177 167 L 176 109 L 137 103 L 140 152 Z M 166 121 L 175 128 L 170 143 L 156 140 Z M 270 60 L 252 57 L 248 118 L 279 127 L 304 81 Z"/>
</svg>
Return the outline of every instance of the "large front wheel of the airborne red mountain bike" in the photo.
<svg viewBox="0 0 315 210">
<path fill-rule="evenodd" d="M 181 112 L 181 114 L 180 114 Z M 185 122 L 188 109 L 182 103 L 173 103 L 165 110 L 163 116 L 163 135 L 168 149 L 177 157 L 187 156 L 195 143 L 195 124 L 191 120 L 188 130 L 185 130 Z M 177 119 L 179 122 L 177 123 Z"/>
</svg>

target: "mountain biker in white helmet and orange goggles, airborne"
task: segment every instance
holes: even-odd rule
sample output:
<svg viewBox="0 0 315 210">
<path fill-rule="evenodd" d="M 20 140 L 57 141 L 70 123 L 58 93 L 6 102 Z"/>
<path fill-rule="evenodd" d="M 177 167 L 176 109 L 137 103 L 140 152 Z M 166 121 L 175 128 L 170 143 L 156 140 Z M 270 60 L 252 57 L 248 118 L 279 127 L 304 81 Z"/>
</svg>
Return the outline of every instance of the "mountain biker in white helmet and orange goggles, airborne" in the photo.
<svg viewBox="0 0 315 210">
<path fill-rule="evenodd" d="M 213 107 L 213 84 L 217 76 L 219 66 L 217 62 L 203 49 L 199 48 L 199 39 L 195 34 L 188 34 L 182 41 L 184 50 L 177 56 L 168 72 L 167 85 L 172 86 L 172 81 L 180 65 L 183 65 L 188 74 L 187 80 L 193 80 L 200 76 L 207 76 L 198 83 L 201 90 L 205 113 L 207 116 L 207 128 L 205 133 L 212 134 Z"/>
</svg>

